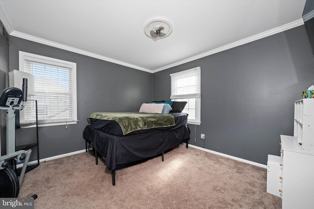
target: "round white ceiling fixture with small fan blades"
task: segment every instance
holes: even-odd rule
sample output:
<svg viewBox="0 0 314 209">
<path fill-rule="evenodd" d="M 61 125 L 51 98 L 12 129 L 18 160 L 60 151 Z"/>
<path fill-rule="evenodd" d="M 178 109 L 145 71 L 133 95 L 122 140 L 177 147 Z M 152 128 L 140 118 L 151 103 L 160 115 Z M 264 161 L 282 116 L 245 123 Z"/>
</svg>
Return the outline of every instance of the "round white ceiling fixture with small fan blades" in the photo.
<svg viewBox="0 0 314 209">
<path fill-rule="evenodd" d="M 145 24 L 145 34 L 152 39 L 163 39 L 172 32 L 172 25 L 165 20 L 153 20 Z"/>
</svg>

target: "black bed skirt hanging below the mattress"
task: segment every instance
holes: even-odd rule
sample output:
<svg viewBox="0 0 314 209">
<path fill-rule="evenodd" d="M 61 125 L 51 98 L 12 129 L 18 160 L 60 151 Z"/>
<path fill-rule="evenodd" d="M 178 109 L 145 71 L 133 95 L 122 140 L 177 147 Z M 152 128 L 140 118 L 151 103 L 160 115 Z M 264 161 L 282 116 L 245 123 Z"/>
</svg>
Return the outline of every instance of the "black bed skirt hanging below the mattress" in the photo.
<svg viewBox="0 0 314 209">
<path fill-rule="evenodd" d="M 190 138 L 189 133 L 189 128 L 185 124 L 175 130 L 120 137 L 88 125 L 84 129 L 83 138 L 92 142 L 96 151 L 105 158 L 105 165 L 110 170 L 115 170 L 119 164 L 151 158 L 182 142 L 187 142 Z"/>
</svg>

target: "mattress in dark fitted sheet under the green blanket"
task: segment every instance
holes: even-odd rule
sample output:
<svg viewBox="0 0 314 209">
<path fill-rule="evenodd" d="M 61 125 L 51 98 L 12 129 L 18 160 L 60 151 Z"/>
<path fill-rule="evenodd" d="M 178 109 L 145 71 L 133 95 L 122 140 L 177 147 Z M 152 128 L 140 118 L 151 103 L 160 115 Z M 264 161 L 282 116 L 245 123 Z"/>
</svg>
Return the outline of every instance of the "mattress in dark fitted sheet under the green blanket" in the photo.
<svg viewBox="0 0 314 209">
<path fill-rule="evenodd" d="M 114 136 L 130 136 L 130 135 L 138 135 L 138 134 L 143 134 L 143 133 L 157 131 L 157 130 L 174 130 L 186 124 L 187 116 L 188 116 L 186 113 L 170 113 L 170 114 L 172 114 L 175 118 L 175 124 L 176 124 L 175 126 L 138 130 L 138 131 L 133 131 L 127 135 L 123 135 L 120 125 L 114 120 L 102 120 L 102 119 L 91 118 L 90 125 L 96 130 L 99 130 L 99 131 L 102 131 L 102 132 L 105 132 L 107 134 L 111 134 Z"/>
</svg>

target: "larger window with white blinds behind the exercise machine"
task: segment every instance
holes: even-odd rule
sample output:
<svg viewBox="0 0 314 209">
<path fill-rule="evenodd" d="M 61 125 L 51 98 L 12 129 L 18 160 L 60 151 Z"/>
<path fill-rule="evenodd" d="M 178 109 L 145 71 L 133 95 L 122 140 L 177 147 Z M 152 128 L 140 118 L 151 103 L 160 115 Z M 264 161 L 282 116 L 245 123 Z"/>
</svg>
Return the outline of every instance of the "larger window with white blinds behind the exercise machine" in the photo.
<svg viewBox="0 0 314 209">
<path fill-rule="evenodd" d="M 27 100 L 37 100 L 39 124 L 77 123 L 76 63 L 20 51 L 19 65 L 35 77 L 35 95 Z M 35 103 L 27 102 L 20 122 L 35 120 Z"/>
</svg>

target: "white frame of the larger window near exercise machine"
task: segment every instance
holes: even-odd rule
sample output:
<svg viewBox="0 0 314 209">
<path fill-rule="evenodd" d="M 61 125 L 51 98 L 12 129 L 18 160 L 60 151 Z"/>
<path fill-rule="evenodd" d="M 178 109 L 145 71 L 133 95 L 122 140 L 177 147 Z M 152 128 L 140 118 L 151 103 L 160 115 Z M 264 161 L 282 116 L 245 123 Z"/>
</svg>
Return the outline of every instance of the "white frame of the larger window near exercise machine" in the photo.
<svg viewBox="0 0 314 209">
<path fill-rule="evenodd" d="M 78 113 L 77 113 L 77 64 L 65 60 L 59 60 L 51 57 L 46 57 L 38 54 L 32 54 L 24 51 L 19 51 L 19 70 L 25 72 L 25 61 L 34 61 L 47 65 L 53 65 L 58 67 L 65 67 L 72 69 L 72 79 L 73 79 L 73 119 L 70 121 L 38 121 L 38 126 L 53 126 L 53 125 L 68 125 L 76 124 L 78 122 Z M 28 96 L 29 97 L 29 96 Z M 27 102 L 26 102 L 27 105 Z M 46 119 L 47 120 L 47 119 Z M 24 111 L 20 111 L 20 123 L 25 123 L 25 114 Z M 36 125 L 23 125 L 23 128 L 35 127 Z"/>
</svg>

